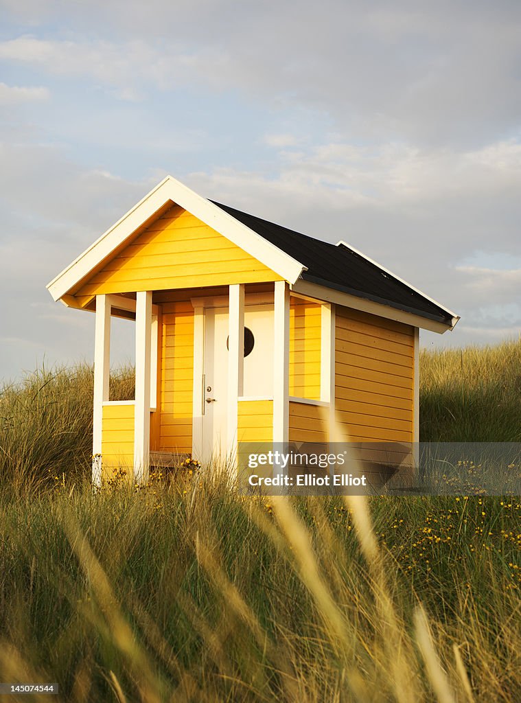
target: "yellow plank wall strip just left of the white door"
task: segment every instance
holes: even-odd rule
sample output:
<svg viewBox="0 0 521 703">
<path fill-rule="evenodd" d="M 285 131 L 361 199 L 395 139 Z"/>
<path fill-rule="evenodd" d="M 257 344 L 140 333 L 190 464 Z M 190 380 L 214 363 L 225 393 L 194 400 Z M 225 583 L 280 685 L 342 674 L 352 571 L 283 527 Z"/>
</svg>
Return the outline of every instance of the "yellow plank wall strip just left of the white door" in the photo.
<svg viewBox="0 0 521 703">
<path fill-rule="evenodd" d="M 189 300 L 162 302 L 160 369 L 159 449 L 191 453 L 193 307 Z"/>
</svg>

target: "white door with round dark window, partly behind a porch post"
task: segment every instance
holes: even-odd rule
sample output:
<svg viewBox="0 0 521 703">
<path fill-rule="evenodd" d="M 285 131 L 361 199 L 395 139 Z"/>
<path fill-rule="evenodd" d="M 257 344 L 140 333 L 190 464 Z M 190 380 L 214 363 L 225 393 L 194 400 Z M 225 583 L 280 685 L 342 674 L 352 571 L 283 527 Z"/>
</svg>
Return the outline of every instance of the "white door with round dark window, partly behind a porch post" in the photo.
<svg viewBox="0 0 521 703">
<path fill-rule="evenodd" d="M 243 396 L 273 397 L 273 305 L 246 305 Z M 202 456 L 225 460 L 228 415 L 228 309 L 205 309 Z"/>
</svg>

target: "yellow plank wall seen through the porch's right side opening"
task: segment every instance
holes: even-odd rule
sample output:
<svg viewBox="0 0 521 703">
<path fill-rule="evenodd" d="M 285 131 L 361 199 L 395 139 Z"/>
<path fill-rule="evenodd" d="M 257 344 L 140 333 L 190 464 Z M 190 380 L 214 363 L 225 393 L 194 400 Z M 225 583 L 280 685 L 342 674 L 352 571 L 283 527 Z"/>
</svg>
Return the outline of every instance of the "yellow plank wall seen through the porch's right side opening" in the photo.
<svg viewBox="0 0 521 703">
<path fill-rule="evenodd" d="M 321 305 L 290 298 L 290 396 L 320 399 Z"/>
</svg>

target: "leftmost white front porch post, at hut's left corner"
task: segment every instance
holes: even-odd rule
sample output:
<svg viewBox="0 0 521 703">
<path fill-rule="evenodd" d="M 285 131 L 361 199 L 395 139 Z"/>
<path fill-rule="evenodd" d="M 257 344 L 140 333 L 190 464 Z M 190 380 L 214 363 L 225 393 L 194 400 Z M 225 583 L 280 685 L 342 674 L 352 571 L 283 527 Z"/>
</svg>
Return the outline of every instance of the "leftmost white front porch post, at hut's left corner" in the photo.
<svg viewBox="0 0 521 703">
<path fill-rule="evenodd" d="M 108 401 L 110 380 L 110 302 L 96 295 L 96 332 L 94 338 L 94 411 L 92 422 L 92 482 L 101 486 L 101 439 L 103 401 Z"/>
</svg>

